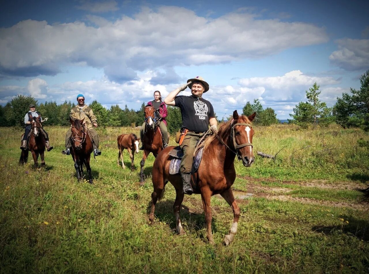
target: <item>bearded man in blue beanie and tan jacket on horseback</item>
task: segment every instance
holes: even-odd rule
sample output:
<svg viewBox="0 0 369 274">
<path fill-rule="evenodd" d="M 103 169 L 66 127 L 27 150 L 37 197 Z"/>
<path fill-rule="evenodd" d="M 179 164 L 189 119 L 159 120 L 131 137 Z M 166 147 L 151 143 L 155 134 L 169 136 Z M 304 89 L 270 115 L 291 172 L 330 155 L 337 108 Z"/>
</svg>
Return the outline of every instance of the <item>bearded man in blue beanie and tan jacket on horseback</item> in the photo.
<svg viewBox="0 0 369 274">
<path fill-rule="evenodd" d="M 72 120 L 81 120 L 85 118 L 84 123 L 86 124 L 87 128 L 89 129 L 91 136 L 92 136 L 92 145 L 93 145 L 93 154 L 94 156 L 98 156 L 101 154 L 101 151 L 99 150 L 99 136 L 97 136 L 97 132 L 94 129 L 94 127 L 97 127 L 97 119 L 96 116 L 94 116 L 92 109 L 85 105 L 85 96 L 83 94 L 77 95 L 77 106 L 73 107 L 70 110 L 69 117 Z M 66 150 L 63 150 L 62 153 L 69 155 L 70 154 L 70 148 L 72 147 L 72 130 L 69 129 L 67 131 L 67 134 L 65 135 L 65 148 Z"/>
</svg>

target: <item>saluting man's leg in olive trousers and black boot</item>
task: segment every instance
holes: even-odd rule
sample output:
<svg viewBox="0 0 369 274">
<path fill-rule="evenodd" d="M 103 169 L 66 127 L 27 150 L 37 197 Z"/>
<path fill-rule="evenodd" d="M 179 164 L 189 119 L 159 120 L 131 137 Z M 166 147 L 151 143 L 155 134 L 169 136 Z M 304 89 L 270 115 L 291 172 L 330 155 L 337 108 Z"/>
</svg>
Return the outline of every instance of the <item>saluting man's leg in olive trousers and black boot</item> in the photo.
<svg viewBox="0 0 369 274">
<path fill-rule="evenodd" d="M 181 178 L 183 182 L 183 193 L 191 195 L 193 189 L 190 182 L 190 173 L 192 169 L 193 162 L 193 152 L 195 151 L 196 143 L 199 140 L 198 134 L 187 133 L 184 136 L 181 148 L 183 150 L 183 157 L 179 167 Z"/>
</svg>

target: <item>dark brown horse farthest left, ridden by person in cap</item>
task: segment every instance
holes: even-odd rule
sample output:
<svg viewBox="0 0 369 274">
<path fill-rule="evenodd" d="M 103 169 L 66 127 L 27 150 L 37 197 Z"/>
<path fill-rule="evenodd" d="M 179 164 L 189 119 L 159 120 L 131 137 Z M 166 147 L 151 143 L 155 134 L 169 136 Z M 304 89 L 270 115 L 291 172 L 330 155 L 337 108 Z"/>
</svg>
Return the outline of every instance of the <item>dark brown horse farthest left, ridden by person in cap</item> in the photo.
<svg viewBox="0 0 369 274">
<path fill-rule="evenodd" d="M 28 161 L 28 151 L 31 151 L 33 161 L 34 161 L 34 168 L 38 167 L 38 155 L 41 157 L 41 167 L 45 165 L 44 160 L 44 152 L 45 152 L 45 137 L 42 133 L 42 126 L 41 126 L 41 116 L 32 117 L 31 119 L 31 126 L 32 132 L 31 136 L 28 140 L 28 150 L 22 150 L 21 157 L 19 158 L 19 164 L 23 165 Z M 22 135 L 23 139 L 23 135 Z"/>
</svg>

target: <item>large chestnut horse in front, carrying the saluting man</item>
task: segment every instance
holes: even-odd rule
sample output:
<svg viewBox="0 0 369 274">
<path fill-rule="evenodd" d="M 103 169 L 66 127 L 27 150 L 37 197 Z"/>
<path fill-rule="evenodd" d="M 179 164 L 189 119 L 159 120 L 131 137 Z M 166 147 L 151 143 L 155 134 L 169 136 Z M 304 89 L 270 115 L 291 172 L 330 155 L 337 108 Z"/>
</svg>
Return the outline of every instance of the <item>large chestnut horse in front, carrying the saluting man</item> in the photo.
<svg viewBox="0 0 369 274">
<path fill-rule="evenodd" d="M 194 173 L 193 178 L 198 186 L 194 193 L 201 194 L 207 223 L 207 239 L 211 244 L 214 244 L 214 240 L 211 233 L 210 197 L 215 194 L 220 194 L 233 209 L 233 223 L 229 234 L 224 237 L 224 244 L 230 244 L 237 233 L 240 211 L 231 189 L 236 178 L 234 158 L 237 155 L 245 167 L 251 166 L 254 162 L 252 152 L 254 130 L 251 121 L 254 120 L 255 115 L 256 113 L 248 117 L 239 116 L 237 110 L 235 110 L 233 119 L 220 126 L 217 136 L 210 136 L 205 141 L 199 169 Z M 172 148 L 165 148 L 154 162 L 152 169 L 154 191 L 151 194 L 152 203 L 149 220 L 154 221 L 155 204 L 158 199 L 162 198 L 165 185 L 170 181 L 176 189 L 176 200 L 173 205 L 176 230 L 179 234 L 184 234 L 179 219 L 179 210 L 184 196 L 182 193 L 182 179 L 179 174 L 169 174 L 169 164 L 172 157 L 168 154 Z"/>
</svg>

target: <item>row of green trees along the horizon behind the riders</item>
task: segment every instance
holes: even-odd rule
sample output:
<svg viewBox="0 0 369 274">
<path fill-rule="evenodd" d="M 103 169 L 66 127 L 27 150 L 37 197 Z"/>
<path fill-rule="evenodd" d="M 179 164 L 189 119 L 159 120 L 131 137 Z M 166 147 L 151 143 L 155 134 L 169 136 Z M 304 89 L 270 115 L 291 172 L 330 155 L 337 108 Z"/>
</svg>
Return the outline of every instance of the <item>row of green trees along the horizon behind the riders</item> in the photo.
<svg viewBox="0 0 369 274">
<path fill-rule="evenodd" d="M 334 107 L 327 107 L 325 102 L 319 99 L 321 93 L 317 83 L 306 90 L 306 102 L 299 102 L 290 114 L 292 119 L 289 123 L 297 124 L 301 127 L 326 126 L 336 122 L 342 127 L 361 127 L 369 130 L 369 70 L 360 78 L 361 88 L 359 90 L 350 89 L 351 94 L 343 93 L 342 97 L 337 97 Z M 75 103 L 65 101 L 61 105 L 56 102 L 45 102 L 38 104 L 31 96 L 15 96 L 5 106 L 0 105 L 0 126 L 24 127 L 24 115 L 33 103 L 36 110 L 42 117 L 48 117 L 47 124 L 54 126 L 69 126 L 69 113 Z M 139 110 L 128 109 L 125 105 L 121 109 L 119 105 L 113 105 L 106 109 L 99 102 L 94 100 L 89 106 L 97 117 L 100 126 L 141 126 L 144 123 L 145 103 L 142 103 Z M 263 108 L 259 99 L 253 103 L 247 102 L 242 109 L 242 114 L 249 116 L 256 112 L 256 125 L 269 126 L 279 123 L 275 111 L 270 108 Z M 232 119 L 232 116 L 228 119 Z M 168 106 L 168 131 L 173 134 L 180 129 L 182 116 L 179 108 Z M 224 121 L 222 119 L 220 122 Z"/>
</svg>

